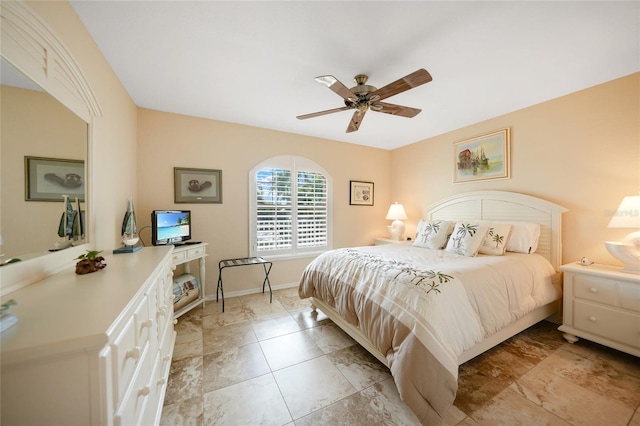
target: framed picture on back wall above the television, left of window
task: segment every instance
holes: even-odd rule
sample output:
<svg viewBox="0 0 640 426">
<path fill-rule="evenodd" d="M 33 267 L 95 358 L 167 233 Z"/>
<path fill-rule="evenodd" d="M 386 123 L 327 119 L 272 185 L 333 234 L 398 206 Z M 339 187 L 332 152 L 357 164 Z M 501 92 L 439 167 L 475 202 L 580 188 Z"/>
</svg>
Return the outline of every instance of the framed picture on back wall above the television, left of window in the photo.
<svg viewBox="0 0 640 426">
<path fill-rule="evenodd" d="M 222 170 L 173 168 L 174 202 L 222 203 Z"/>
</svg>

